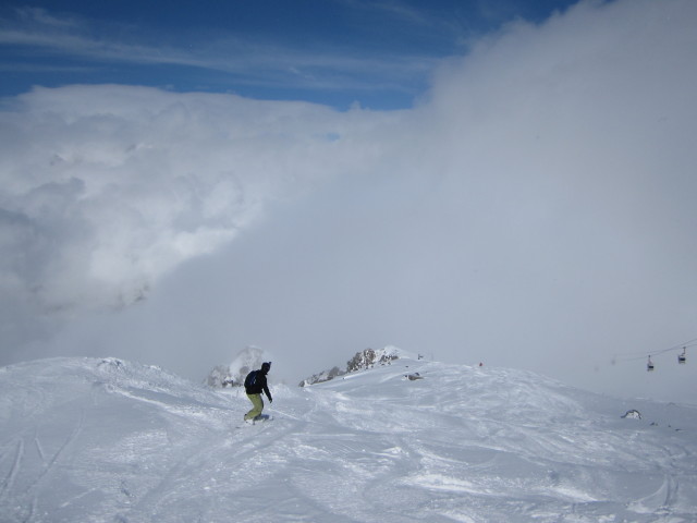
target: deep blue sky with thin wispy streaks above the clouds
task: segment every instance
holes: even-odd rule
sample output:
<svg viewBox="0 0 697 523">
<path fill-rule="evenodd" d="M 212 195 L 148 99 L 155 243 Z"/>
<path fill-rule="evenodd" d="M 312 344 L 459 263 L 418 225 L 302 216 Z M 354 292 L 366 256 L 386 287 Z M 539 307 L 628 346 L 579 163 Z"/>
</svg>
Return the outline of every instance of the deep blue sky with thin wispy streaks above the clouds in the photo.
<svg viewBox="0 0 697 523">
<path fill-rule="evenodd" d="M 0 95 L 124 84 L 411 107 L 439 60 L 568 0 L 5 1 Z"/>
</svg>

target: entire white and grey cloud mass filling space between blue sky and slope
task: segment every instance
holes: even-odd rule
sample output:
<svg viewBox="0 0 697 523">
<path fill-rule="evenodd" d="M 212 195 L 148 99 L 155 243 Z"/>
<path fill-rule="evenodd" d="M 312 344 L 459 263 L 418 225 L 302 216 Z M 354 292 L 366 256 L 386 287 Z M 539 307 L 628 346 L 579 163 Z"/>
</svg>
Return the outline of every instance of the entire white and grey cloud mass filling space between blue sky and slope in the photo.
<svg viewBox="0 0 697 523">
<path fill-rule="evenodd" d="M 634 0 L 516 23 L 395 113 L 36 90 L 1 115 L 3 294 L 132 302 L 172 275 L 157 327 L 109 346 L 182 367 L 193 343 L 394 342 L 594 382 L 695 335 L 696 22 Z"/>
</svg>

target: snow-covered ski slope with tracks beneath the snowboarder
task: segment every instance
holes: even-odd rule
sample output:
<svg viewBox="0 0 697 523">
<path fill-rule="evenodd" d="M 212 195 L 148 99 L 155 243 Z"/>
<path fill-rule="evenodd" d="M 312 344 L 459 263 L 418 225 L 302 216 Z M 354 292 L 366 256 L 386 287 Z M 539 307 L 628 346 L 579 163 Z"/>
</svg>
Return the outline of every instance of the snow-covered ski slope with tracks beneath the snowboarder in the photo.
<svg viewBox="0 0 697 523">
<path fill-rule="evenodd" d="M 157 367 L 0 368 L 0 521 L 697 521 L 695 408 L 413 360 L 271 389 L 245 426 Z"/>
</svg>

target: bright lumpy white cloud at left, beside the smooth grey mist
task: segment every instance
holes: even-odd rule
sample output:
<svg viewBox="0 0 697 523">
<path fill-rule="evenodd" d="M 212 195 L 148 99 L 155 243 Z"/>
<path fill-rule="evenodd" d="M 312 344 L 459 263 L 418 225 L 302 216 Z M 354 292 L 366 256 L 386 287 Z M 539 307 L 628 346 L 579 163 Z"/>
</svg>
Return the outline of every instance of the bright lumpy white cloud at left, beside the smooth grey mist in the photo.
<svg viewBox="0 0 697 523">
<path fill-rule="evenodd" d="M 2 114 L 0 202 L 3 251 L 34 254 L 3 272 L 48 308 L 127 304 L 321 178 L 335 118 L 120 86 L 25 95 Z"/>
</svg>

